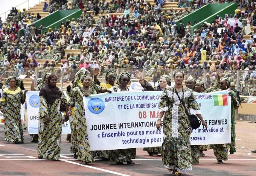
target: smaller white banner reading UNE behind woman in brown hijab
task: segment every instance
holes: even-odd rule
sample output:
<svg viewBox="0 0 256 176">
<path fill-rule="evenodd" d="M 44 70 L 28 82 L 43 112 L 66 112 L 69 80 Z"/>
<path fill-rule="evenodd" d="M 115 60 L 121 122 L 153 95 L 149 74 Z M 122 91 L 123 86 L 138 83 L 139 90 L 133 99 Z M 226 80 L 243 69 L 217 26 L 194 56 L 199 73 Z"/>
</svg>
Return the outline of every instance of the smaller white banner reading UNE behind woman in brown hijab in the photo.
<svg viewBox="0 0 256 176">
<path fill-rule="evenodd" d="M 26 94 L 27 101 L 27 127 L 29 134 L 38 134 L 38 118 L 40 106 L 40 91 L 28 91 Z M 66 91 L 63 93 L 67 96 Z M 70 134 L 69 121 L 62 124 L 62 134 Z"/>
</svg>

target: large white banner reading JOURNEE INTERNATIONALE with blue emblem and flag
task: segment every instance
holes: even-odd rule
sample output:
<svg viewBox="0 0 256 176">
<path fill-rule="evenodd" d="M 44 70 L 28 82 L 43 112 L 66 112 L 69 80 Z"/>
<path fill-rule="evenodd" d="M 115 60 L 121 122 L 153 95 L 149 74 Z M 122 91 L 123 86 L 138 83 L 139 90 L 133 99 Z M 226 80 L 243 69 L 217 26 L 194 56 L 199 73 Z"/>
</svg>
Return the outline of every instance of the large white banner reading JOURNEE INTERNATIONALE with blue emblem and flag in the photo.
<svg viewBox="0 0 256 176">
<path fill-rule="evenodd" d="M 208 129 L 191 129 L 191 145 L 231 141 L 231 99 L 228 91 L 194 93 Z M 156 129 L 162 92 L 122 92 L 84 97 L 91 150 L 156 147 L 163 130 Z"/>
</svg>

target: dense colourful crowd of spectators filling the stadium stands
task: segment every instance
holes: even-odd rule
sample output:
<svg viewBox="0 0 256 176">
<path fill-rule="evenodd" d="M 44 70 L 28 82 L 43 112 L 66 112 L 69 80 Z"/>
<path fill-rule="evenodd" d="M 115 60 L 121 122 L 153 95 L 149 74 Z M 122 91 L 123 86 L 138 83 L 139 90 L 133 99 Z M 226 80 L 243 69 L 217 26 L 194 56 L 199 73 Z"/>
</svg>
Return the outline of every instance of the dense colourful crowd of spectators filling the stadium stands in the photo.
<svg viewBox="0 0 256 176">
<path fill-rule="evenodd" d="M 28 75 L 34 74 L 31 68 L 53 68 L 59 63 L 67 68 L 67 75 L 81 67 L 99 68 L 101 73 L 117 68 L 145 68 L 153 78 L 171 69 L 188 70 L 189 74 L 196 72 L 189 70 L 207 69 L 209 77 L 214 77 L 214 71 L 220 68 L 225 74 L 247 71 L 246 75 L 240 75 L 245 81 L 243 88 L 247 88 L 247 81 L 256 85 L 256 29 L 249 32 L 250 39 L 244 38 L 248 25 L 255 24 L 255 0 L 241 1 L 234 14 L 226 14 L 223 19 L 217 15 L 212 23 L 205 22 L 194 31 L 192 26 L 199 21 L 191 21 L 186 27 L 179 21 L 193 8 L 167 11 L 162 8 L 164 3 L 162 0 L 155 5 L 143 0 L 50 1 L 44 11 L 83 9 L 84 13 L 43 34 L 43 24 L 38 29 L 30 25 L 40 19 L 39 14 L 13 9 L 4 23 L 0 20 L 0 67 L 14 67 L 15 74 L 27 70 Z M 193 7 L 207 3 L 198 0 Z M 229 25 L 229 18 L 237 18 L 242 26 Z M 174 21 L 179 21 L 178 26 Z M 24 33 L 18 37 L 18 30 L 23 27 Z M 81 54 L 75 56 L 64 49 L 81 49 Z M 64 56 L 66 60 L 62 61 Z M 38 64 L 39 59 L 45 59 L 45 64 Z M 201 60 L 208 61 L 200 64 Z"/>
</svg>

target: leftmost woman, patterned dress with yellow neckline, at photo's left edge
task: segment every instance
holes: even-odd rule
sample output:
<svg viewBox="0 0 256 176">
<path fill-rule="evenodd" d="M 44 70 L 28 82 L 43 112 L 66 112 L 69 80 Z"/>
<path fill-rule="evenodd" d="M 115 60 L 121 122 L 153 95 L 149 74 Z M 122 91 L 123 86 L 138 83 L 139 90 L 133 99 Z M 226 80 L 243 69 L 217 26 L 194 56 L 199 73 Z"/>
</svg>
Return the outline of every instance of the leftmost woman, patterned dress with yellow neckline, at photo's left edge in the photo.
<svg viewBox="0 0 256 176">
<path fill-rule="evenodd" d="M 5 121 L 5 140 L 9 143 L 24 143 L 23 128 L 20 116 L 20 103 L 25 102 L 26 93 L 23 94 L 17 86 L 17 78 L 9 76 L 6 80 L 9 85 L 2 91 L 0 109 Z"/>
</svg>

